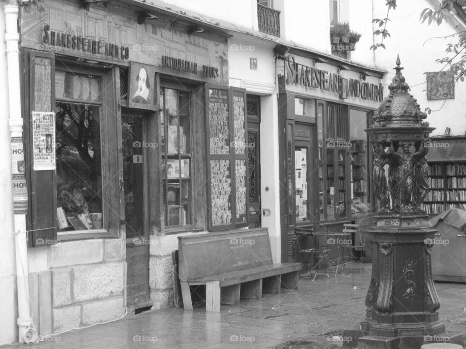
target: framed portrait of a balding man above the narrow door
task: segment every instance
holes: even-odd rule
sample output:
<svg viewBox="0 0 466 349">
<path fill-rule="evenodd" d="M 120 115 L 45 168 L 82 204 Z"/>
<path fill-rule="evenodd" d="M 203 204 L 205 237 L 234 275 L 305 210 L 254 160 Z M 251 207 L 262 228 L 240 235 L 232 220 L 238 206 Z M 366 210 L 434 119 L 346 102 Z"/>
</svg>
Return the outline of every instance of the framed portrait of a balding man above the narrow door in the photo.
<svg viewBox="0 0 466 349">
<path fill-rule="evenodd" d="M 154 66 L 130 62 L 128 105 L 131 108 L 154 109 Z"/>
</svg>

